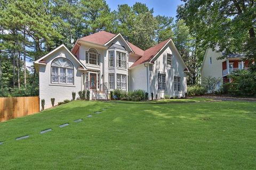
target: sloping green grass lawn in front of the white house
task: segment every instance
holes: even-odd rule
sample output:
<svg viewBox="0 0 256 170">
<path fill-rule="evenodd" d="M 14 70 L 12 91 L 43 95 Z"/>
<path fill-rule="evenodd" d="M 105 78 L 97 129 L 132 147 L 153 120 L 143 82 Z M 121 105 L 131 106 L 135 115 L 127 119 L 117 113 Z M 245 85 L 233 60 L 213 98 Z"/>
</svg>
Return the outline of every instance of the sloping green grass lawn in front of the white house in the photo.
<svg viewBox="0 0 256 170">
<path fill-rule="evenodd" d="M 255 169 L 256 103 L 206 100 L 73 101 L 0 123 L 0 169 Z"/>
</svg>

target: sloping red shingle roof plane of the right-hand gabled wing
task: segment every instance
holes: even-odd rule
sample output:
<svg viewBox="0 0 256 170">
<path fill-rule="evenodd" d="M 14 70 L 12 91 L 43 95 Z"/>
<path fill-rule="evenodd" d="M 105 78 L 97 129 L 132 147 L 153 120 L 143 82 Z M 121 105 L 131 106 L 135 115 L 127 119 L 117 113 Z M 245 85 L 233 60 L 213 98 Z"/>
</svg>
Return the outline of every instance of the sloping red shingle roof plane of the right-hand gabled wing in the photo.
<svg viewBox="0 0 256 170">
<path fill-rule="evenodd" d="M 145 50 L 143 56 L 140 57 L 139 60 L 137 60 L 135 63 L 133 63 L 131 67 L 134 67 L 134 66 L 136 66 L 136 65 L 139 65 L 139 64 L 142 64 L 142 63 L 145 63 L 145 62 L 150 61 L 150 60 L 159 52 L 159 50 L 161 50 L 161 49 L 164 47 L 164 45 L 165 45 L 170 39 L 171 39 L 171 38 L 166 39 L 166 40 L 163 41 L 162 43 L 159 43 L 159 44 L 155 45 L 154 47 L 151 47 L 151 48 Z"/>
</svg>

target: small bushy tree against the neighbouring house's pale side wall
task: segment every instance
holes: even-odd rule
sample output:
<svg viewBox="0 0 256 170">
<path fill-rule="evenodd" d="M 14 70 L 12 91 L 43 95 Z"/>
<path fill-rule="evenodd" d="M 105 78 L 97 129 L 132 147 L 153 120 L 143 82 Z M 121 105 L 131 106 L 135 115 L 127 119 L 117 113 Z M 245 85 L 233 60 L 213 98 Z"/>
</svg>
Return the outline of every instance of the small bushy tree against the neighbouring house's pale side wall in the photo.
<svg viewBox="0 0 256 170">
<path fill-rule="evenodd" d="M 220 85 L 222 82 L 222 78 L 214 78 L 214 77 L 204 77 L 202 79 L 202 86 L 207 89 L 207 91 L 210 91 L 211 93 L 214 93 L 216 91 L 217 86 Z"/>
</svg>

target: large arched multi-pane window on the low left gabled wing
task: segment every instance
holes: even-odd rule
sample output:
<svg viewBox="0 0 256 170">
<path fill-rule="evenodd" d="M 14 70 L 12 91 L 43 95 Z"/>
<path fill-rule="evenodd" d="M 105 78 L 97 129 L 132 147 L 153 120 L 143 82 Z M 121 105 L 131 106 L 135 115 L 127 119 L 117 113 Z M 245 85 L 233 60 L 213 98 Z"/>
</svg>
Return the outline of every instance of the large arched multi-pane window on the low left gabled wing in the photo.
<svg viewBox="0 0 256 170">
<path fill-rule="evenodd" d="M 74 66 L 66 58 L 56 58 L 51 65 L 52 83 L 74 84 Z"/>
</svg>

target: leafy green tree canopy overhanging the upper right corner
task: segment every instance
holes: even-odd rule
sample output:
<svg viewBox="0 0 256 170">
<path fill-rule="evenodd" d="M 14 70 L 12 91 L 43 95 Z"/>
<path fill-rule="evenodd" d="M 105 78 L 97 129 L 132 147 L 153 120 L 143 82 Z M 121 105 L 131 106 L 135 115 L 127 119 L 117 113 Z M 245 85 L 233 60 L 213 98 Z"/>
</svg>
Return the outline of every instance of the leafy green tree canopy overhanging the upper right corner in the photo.
<svg viewBox="0 0 256 170">
<path fill-rule="evenodd" d="M 254 0 L 182 1 L 185 4 L 178 7 L 178 18 L 186 21 L 202 44 L 256 59 Z"/>
</svg>

